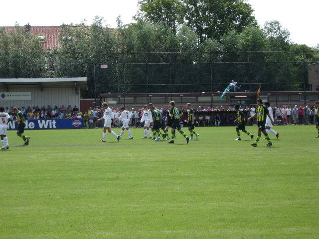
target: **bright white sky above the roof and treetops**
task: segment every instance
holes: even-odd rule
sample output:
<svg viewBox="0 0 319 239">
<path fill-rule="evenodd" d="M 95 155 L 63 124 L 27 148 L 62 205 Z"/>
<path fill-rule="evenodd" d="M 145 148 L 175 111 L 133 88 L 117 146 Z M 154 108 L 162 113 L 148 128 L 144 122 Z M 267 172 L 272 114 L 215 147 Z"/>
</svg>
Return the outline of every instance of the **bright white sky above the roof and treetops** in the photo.
<svg viewBox="0 0 319 239">
<path fill-rule="evenodd" d="M 294 43 L 314 47 L 319 44 L 319 0 L 247 0 L 255 10 L 260 25 L 278 20 L 291 33 Z M 95 16 L 103 17 L 105 24 L 116 27 L 121 15 L 124 24 L 134 22 L 138 0 L 5 0 L 1 1 L 0 26 L 59 26 L 78 24 L 86 20 L 90 25 Z M 10 9 L 10 10 L 9 10 Z M 12 10 L 11 10 L 12 9 Z M 317 18 L 317 19 L 316 19 Z M 316 23 L 317 22 L 317 23 Z"/>
</svg>

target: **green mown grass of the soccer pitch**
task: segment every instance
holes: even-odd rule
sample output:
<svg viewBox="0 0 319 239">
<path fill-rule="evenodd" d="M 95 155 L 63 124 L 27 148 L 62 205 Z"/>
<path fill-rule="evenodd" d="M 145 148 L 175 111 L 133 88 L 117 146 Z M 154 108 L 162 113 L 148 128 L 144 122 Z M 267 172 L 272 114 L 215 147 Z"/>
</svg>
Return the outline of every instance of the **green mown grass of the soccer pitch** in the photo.
<svg viewBox="0 0 319 239">
<path fill-rule="evenodd" d="M 100 143 L 101 129 L 76 129 L 26 130 L 20 146 L 9 131 L 0 238 L 318 239 L 317 130 L 275 129 L 257 148 L 235 127 L 195 128 L 187 145 L 179 133 L 175 144 L 142 129 Z"/>
</svg>

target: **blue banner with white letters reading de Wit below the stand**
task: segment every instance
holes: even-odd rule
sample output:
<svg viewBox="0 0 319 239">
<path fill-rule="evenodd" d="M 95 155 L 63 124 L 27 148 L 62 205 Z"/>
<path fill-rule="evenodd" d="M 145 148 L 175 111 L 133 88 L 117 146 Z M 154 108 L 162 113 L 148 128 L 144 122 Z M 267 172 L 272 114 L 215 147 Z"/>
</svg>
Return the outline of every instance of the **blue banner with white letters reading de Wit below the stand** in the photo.
<svg viewBox="0 0 319 239">
<path fill-rule="evenodd" d="M 24 121 L 25 129 L 60 129 L 82 128 L 82 119 L 27 119 Z M 17 124 L 10 121 L 8 129 L 17 129 Z"/>
</svg>

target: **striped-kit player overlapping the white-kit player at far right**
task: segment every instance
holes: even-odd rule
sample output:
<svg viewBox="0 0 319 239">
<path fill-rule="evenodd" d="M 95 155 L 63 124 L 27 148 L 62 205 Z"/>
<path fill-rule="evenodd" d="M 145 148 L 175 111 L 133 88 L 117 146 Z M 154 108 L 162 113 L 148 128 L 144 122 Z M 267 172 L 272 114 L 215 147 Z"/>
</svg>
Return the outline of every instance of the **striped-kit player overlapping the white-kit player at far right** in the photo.
<svg viewBox="0 0 319 239">
<path fill-rule="evenodd" d="M 269 115 L 269 111 L 267 107 L 263 105 L 262 99 L 257 99 L 257 105 L 258 106 L 256 107 L 255 114 L 252 117 L 248 118 L 248 120 L 251 120 L 257 116 L 257 123 L 258 123 L 258 136 L 256 138 L 256 141 L 252 143 L 251 145 L 254 147 L 257 146 L 257 143 L 261 137 L 261 132 L 263 132 L 263 134 L 265 135 L 265 138 L 268 141 L 268 144 L 266 146 L 271 146 L 273 144 L 270 141 L 269 135 L 266 132 L 266 127 L 265 127 L 267 116 L 269 117 L 269 119 L 271 119 Z M 275 122 L 272 119 L 271 119 L 271 123 L 275 124 Z"/>
</svg>

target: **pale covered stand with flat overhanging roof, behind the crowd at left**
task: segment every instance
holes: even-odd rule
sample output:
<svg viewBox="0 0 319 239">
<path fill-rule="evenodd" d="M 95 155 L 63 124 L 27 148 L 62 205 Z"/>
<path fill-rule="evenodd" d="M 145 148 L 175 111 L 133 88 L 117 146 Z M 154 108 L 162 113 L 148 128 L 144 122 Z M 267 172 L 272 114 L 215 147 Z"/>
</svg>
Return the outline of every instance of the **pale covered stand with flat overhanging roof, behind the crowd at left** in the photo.
<svg viewBox="0 0 319 239">
<path fill-rule="evenodd" d="M 11 108 L 56 105 L 80 107 L 80 92 L 87 90 L 87 78 L 0 79 L 0 105 Z"/>
</svg>

